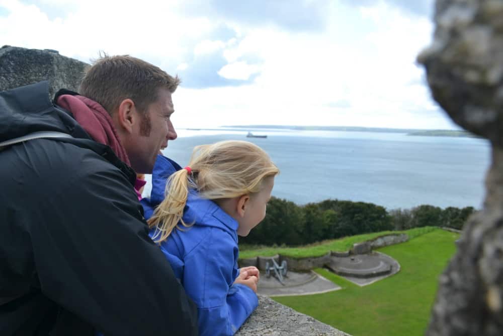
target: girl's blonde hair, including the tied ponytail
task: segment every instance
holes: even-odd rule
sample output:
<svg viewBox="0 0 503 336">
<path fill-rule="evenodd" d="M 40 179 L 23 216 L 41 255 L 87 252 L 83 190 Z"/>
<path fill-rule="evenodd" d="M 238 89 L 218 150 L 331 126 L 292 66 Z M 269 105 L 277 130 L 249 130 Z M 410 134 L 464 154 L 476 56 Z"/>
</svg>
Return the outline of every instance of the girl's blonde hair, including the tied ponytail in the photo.
<svg viewBox="0 0 503 336">
<path fill-rule="evenodd" d="M 164 200 L 148 220 L 149 227 L 157 227 L 156 242 L 166 240 L 179 222 L 191 225 L 182 220 L 189 188 L 207 199 L 233 198 L 261 191 L 264 179 L 279 173 L 263 149 L 246 141 L 197 146 L 189 167 L 190 175 L 181 169 L 167 179 Z"/>
</svg>

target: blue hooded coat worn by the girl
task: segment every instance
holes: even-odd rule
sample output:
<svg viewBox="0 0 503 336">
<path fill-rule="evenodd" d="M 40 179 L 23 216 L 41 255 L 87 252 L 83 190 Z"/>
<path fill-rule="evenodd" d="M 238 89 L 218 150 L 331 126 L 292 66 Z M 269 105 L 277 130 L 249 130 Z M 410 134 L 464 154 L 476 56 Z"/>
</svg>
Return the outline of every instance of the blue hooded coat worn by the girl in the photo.
<svg viewBox="0 0 503 336">
<path fill-rule="evenodd" d="M 150 198 L 141 200 L 146 219 L 164 198 L 167 178 L 179 169 L 176 162 L 157 157 Z M 183 231 L 173 230 L 160 248 L 198 306 L 200 334 L 232 335 L 259 303 L 250 288 L 233 285 L 239 274 L 237 222 L 213 201 L 200 198 L 193 190 L 189 193 L 183 220 L 194 225 L 181 226 Z M 150 236 L 153 234 L 151 230 Z"/>
</svg>

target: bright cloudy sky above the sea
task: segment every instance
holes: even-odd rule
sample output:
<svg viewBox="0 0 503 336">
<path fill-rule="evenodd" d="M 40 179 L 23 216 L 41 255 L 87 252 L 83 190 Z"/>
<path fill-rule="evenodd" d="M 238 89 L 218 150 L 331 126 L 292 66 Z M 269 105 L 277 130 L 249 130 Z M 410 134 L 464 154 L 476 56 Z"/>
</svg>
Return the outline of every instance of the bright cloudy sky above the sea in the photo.
<svg viewBox="0 0 503 336">
<path fill-rule="evenodd" d="M 416 55 L 433 0 L 0 0 L 0 45 L 130 54 L 182 79 L 176 127 L 457 129 Z"/>
</svg>

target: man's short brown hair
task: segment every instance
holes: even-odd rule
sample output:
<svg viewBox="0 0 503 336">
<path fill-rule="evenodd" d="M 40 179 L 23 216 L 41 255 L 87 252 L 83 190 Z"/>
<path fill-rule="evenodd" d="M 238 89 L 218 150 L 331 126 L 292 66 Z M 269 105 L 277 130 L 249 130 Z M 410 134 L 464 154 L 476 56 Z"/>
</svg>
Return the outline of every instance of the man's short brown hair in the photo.
<svg viewBox="0 0 503 336">
<path fill-rule="evenodd" d="M 100 103 L 112 115 L 124 99 L 131 99 L 140 112 L 157 100 L 160 88 L 171 93 L 180 84 L 157 66 L 129 55 L 101 55 L 86 70 L 79 93 Z"/>
</svg>

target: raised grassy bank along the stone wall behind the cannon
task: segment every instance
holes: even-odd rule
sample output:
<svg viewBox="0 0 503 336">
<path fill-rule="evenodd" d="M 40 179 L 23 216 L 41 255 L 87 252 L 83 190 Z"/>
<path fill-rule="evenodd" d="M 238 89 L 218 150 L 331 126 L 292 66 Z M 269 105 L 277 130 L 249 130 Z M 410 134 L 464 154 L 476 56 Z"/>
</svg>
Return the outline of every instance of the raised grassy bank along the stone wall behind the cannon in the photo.
<svg viewBox="0 0 503 336">
<path fill-rule="evenodd" d="M 251 258 L 256 256 L 273 256 L 277 253 L 294 258 L 317 257 L 326 254 L 328 251 L 348 251 L 354 243 L 370 240 L 388 234 L 406 233 L 409 239 L 437 230 L 437 228 L 427 226 L 414 228 L 406 231 L 382 231 L 366 233 L 357 236 L 332 239 L 300 247 L 261 247 L 239 245 L 239 258 Z"/>
</svg>

